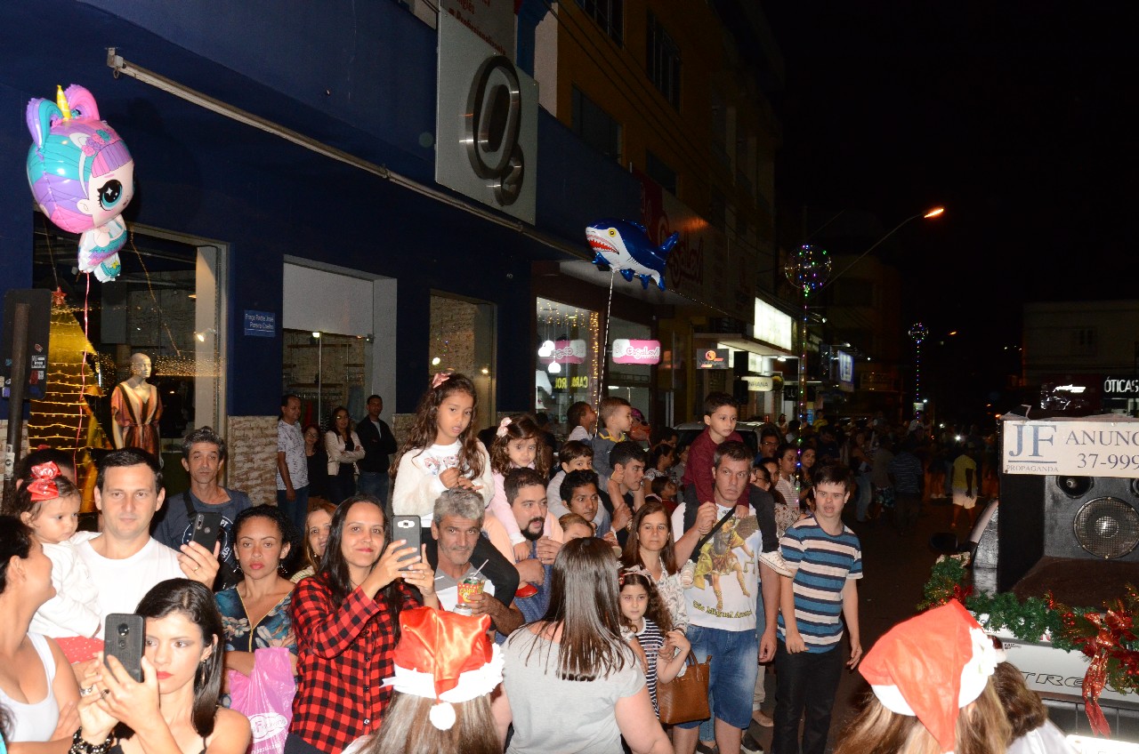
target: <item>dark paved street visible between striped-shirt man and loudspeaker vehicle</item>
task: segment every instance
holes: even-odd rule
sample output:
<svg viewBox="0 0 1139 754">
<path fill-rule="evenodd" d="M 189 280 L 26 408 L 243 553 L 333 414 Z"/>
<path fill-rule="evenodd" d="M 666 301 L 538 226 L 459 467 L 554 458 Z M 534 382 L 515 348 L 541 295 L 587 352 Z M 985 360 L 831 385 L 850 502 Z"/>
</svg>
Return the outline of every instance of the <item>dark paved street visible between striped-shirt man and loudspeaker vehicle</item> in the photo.
<svg viewBox="0 0 1139 754">
<path fill-rule="evenodd" d="M 937 557 L 928 547 L 929 535 L 936 531 L 949 530 L 950 506 L 948 500 L 926 503 L 923 516 L 918 518 L 917 532 L 906 538 L 900 536 L 893 526 L 885 522 L 871 525 L 853 523 L 851 505 L 847 505 L 845 513 L 847 525 L 862 542 L 862 566 L 866 575 L 859 584 L 859 606 L 862 649 L 866 651 L 892 625 L 917 612 L 916 606 L 921 601 L 921 587 L 929 577 L 929 568 Z M 964 534 L 964 528 L 960 533 Z M 849 645 L 844 645 L 844 651 L 846 646 Z M 764 703 L 764 711 L 772 714 L 776 680 L 770 666 L 765 687 L 768 699 Z M 843 673 L 827 751 L 834 748 L 839 731 L 846 720 L 857 712 L 862 695 L 868 690 L 869 687 L 857 670 Z M 771 751 L 770 728 L 752 723 L 748 732 L 763 745 L 764 751 Z"/>
</svg>

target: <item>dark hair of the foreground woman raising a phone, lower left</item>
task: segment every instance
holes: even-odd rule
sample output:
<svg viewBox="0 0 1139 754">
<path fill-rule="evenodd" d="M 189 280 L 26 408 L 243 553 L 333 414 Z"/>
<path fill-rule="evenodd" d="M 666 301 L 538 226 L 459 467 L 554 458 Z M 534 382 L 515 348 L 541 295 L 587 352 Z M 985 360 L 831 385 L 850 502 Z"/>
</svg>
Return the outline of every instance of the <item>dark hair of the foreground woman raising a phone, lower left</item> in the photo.
<svg viewBox="0 0 1139 754">
<path fill-rule="evenodd" d="M 155 584 L 142 597 L 134 612 L 145 618 L 155 620 L 180 614 L 198 626 L 204 646 L 213 647 L 213 651 L 202 661 L 202 666 L 194 674 L 194 707 L 190 714 L 198 735 L 203 738 L 210 736 L 221 696 L 226 655 L 226 633 L 213 592 L 189 579 L 167 579 Z"/>
</svg>

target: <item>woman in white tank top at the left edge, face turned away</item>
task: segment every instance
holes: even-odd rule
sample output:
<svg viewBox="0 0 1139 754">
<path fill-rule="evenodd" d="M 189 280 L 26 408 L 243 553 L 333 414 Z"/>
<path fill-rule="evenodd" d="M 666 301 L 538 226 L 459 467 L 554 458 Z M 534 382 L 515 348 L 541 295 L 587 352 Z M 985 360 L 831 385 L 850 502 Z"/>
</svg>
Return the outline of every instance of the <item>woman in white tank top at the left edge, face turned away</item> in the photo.
<svg viewBox="0 0 1139 754">
<path fill-rule="evenodd" d="M 43 546 L 18 518 L 0 516 L 0 705 L 9 711 L 13 752 L 19 741 L 55 741 L 62 754 L 79 724 L 79 686 L 63 650 L 27 630 L 55 593 Z"/>
</svg>

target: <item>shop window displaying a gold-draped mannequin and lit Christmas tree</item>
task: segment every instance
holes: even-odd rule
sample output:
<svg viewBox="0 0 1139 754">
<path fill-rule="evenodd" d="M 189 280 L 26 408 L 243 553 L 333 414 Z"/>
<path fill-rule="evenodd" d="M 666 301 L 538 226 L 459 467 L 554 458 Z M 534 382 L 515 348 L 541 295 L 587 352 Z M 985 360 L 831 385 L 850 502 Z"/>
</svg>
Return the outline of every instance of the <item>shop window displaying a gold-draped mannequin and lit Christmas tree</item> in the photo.
<svg viewBox="0 0 1139 754">
<path fill-rule="evenodd" d="M 39 213 L 34 222 L 33 285 L 58 293 L 48 387 L 31 402 L 31 446 L 79 451 L 88 506 L 92 458 L 105 450 L 157 452 L 177 476 L 188 432 L 213 425 L 224 433 L 224 249 L 134 228 L 118 254 L 122 272 L 99 282 L 76 271 L 77 236 Z"/>
</svg>

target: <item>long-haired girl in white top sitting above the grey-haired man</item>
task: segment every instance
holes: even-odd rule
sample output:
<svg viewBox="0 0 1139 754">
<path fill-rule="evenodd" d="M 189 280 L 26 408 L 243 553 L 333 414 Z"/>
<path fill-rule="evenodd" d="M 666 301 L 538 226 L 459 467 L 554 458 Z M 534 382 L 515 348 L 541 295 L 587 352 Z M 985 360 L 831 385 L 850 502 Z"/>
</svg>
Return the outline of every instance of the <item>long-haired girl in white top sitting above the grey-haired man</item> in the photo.
<svg viewBox="0 0 1139 754">
<path fill-rule="evenodd" d="M 431 527 L 435 500 L 443 490 L 466 487 L 487 503 L 494 492 L 490 457 L 474 431 L 477 415 L 474 383 L 457 372 L 440 372 L 416 409 L 416 421 L 392 468 L 392 513 L 419 516 Z M 483 531 L 505 558 L 514 563 L 510 538 L 498 518 L 486 516 Z M 427 534 L 431 538 L 431 534 Z"/>
</svg>

